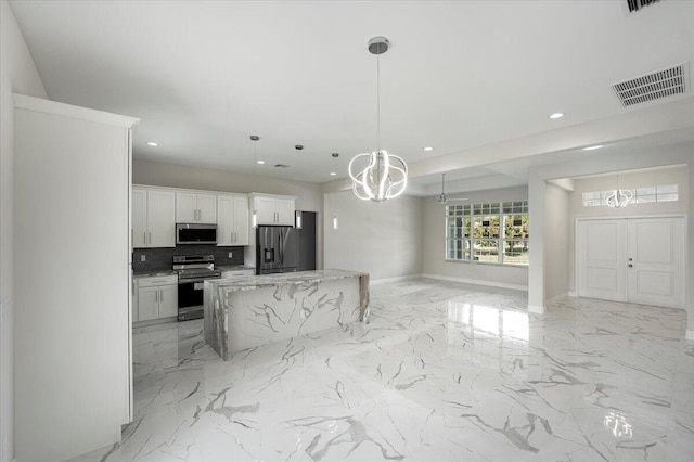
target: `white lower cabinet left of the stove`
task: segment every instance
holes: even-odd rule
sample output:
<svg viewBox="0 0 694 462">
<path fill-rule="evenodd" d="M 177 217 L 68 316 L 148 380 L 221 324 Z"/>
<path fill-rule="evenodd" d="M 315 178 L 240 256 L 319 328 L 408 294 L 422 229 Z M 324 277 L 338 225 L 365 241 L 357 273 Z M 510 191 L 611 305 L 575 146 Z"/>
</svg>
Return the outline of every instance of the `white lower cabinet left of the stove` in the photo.
<svg viewBox="0 0 694 462">
<path fill-rule="evenodd" d="M 178 315 L 178 277 L 138 279 L 138 321 Z"/>
</svg>

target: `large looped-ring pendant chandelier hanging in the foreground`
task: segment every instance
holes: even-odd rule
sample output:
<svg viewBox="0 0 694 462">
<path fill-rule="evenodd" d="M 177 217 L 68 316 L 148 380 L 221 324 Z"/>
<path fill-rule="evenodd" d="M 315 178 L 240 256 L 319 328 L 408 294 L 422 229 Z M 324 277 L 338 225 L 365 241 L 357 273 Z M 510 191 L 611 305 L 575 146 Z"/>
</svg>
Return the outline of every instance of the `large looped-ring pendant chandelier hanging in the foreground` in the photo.
<svg viewBox="0 0 694 462">
<path fill-rule="evenodd" d="M 374 37 L 369 40 L 369 52 L 376 55 L 376 124 L 378 140 L 376 151 L 358 154 L 349 162 L 352 191 L 362 201 L 383 202 L 399 196 L 408 184 L 408 165 L 397 156 L 381 149 L 381 54 L 388 51 L 388 39 Z M 363 162 L 365 161 L 365 166 Z M 359 168 L 357 165 L 361 164 Z"/>
</svg>

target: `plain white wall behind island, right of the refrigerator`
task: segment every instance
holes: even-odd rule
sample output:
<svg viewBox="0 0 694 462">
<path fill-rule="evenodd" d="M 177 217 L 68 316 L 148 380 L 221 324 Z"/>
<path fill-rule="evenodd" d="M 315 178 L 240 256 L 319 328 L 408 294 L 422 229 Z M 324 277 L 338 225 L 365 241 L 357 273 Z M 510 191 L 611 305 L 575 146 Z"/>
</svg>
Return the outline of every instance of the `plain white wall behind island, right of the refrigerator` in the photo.
<svg viewBox="0 0 694 462">
<path fill-rule="evenodd" d="M 422 273 L 422 198 L 376 203 L 343 191 L 325 194 L 324 210 L 325 268 L 368 272 L 371 282 Z"/>
</svg>

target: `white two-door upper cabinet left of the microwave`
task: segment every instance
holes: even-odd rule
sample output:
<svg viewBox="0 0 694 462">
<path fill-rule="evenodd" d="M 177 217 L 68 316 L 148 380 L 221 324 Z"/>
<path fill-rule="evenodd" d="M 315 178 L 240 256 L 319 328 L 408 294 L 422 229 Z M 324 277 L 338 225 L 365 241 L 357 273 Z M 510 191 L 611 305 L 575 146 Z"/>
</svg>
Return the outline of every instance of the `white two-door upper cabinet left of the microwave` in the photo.
<svg viewBox="0 0 694 462">
<path fill-rule="evenodd" d="M 132 188 L 132 247 L 176 247 L 176 195 Z"/>
</svg>

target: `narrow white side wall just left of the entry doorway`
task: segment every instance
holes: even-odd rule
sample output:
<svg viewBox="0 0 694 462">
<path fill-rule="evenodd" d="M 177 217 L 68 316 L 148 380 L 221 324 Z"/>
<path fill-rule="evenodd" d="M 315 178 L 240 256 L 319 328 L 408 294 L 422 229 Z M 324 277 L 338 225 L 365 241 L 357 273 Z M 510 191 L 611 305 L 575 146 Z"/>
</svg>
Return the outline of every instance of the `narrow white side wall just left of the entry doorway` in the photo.
<svg viewBox="0 0 694 462">
<path fill-rule="evenodd" d="M 568 293 L 569 193 L 553 184 L 544 189 L 544 298 Z"/>
</svg>

